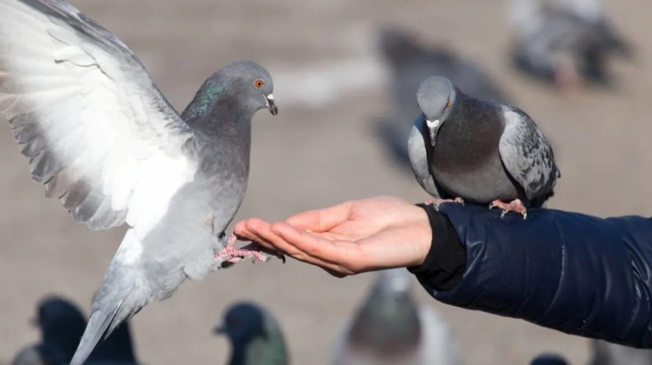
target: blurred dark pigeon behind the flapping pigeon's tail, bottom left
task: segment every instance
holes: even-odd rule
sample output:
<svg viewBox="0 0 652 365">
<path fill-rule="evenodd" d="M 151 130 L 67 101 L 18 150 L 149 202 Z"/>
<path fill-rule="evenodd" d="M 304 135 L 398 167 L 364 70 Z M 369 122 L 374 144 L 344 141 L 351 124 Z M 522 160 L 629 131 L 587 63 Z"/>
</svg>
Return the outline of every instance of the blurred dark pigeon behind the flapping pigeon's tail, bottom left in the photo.
<svg viewBox="0 0 652 365">
<path fill-rule="evenodd" d="M 38 303 L 33 323 L 40 330 L 40 343 L 25 347 L 12 364 L 69 364 L 86 327 L 82 311 L 69 300 L 51 296 Z M 98 345 L 86 364 L 137 364 L 128 322 Z"/>
</svg>

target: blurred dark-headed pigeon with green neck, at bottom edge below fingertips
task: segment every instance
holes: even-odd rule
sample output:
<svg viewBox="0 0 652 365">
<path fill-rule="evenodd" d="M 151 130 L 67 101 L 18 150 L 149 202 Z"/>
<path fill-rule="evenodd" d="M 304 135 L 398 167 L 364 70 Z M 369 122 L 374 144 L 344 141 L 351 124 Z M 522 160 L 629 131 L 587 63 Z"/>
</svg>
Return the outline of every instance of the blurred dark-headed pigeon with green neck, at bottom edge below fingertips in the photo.
<svg viewBox="0 0 652 365">
<path fill-rule="evenodd" d="M 238 303 L 227 309 L 215 328 L 231 342 L 230 365 L 287 365 L 281 328 L 269 311 L 252 303 Z"/>
</svg>

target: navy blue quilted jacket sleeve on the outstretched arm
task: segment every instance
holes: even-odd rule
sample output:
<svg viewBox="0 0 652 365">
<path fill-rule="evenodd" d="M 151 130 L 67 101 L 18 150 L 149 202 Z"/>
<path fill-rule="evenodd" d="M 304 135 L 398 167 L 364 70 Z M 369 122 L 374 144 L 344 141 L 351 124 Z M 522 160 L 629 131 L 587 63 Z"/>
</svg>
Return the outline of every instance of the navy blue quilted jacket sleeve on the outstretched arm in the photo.
<svg viewBox="0 0 652 365">
<path fill-rule="evenodd" d="M 501 218 L 498 210 L 459 204 L 444 204 L 440 213 L 466 260 L 452 288 L 433 287 L 432 276 L 413 270 L 437 300 L 652 347 L 651 219 L 547 209 Z"/>
</svg>

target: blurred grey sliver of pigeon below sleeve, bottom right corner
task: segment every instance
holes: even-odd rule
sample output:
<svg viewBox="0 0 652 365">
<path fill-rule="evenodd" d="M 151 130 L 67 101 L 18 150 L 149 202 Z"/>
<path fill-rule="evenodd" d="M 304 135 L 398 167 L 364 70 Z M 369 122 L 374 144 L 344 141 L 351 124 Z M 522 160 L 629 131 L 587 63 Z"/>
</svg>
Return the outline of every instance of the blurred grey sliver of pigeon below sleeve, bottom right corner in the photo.
<svg viewBox="0 0 652 365">
<path fill-rule="evenodd" d="M 591 340 L 591 365 L 650 365 L 652 350 L 635 349 L 607 341 Z"/>
</svg>

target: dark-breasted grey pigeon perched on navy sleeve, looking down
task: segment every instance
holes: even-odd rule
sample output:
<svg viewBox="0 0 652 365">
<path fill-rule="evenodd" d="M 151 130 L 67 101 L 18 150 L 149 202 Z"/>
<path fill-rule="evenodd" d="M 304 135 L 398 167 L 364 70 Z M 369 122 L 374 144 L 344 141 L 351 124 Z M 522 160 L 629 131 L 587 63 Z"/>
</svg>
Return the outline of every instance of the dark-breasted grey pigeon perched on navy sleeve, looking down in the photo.
<svg viewBox="0 0 652 365">
<path fill-rule="evenodd" d="M 409 157 L 437 206 L 461 198 L 526 217 L 526 207 L 552 196 L 559 177 L 552 148 L 522 110 L 473 99 L 440 76 L 421 83 L 417 102 Z"/>
</svg>

